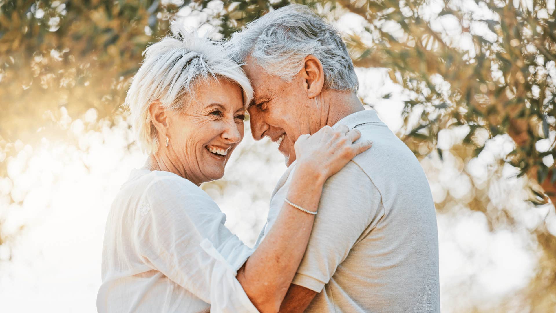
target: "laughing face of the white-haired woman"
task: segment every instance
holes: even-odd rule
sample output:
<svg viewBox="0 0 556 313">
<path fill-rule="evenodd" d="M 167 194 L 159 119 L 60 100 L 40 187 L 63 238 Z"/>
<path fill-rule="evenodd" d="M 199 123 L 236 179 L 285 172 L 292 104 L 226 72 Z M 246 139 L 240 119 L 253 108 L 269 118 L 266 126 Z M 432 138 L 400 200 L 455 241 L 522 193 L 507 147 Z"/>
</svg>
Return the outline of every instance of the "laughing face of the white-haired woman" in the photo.
<svg viewBox="0 0 556 313">
<path fill-rule="evenodd" d="M 185 113 L 168 116 L 167 149 L 182 164 L 185 177 L 200 184 L 224 175 L 232 151 L 244 136 L 245 110 L 240 86 L 227 80 L 210 79 L 198 85 L 195 98 Z"/>
</svg>

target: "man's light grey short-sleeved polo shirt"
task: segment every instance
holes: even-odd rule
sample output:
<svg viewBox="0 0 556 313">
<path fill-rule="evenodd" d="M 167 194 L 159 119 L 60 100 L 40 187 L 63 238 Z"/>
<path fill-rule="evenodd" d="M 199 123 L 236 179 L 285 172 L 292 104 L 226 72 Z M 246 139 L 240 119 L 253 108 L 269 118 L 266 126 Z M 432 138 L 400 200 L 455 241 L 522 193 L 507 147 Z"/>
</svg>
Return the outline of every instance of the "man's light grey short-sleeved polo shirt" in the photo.
<svg viewBox="0 0 556 313">
<path fill-rule="evenodd" d="M 306 312 L 439 312 L 438 232 L 429 183 L 408 147 L 360 111 L 339 124 L 373 147 L 330 177 L 293 283 L 319 292 Z M 295 162 L 276 185 L 274 223 Z"/>
</svg>

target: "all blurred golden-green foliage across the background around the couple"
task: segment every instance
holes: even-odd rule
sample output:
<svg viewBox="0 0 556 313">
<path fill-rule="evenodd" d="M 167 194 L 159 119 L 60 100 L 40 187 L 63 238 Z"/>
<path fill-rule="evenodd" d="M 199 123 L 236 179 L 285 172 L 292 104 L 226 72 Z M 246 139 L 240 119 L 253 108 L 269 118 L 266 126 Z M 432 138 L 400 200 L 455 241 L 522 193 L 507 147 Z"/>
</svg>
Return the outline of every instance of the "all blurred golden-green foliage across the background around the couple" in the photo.
<svg viewBox="0 0 556 313">
<path fill-rule="evenodd" d="M 296 2 L 327 18 L 349 12 L 361 19 L 363 32 L 344 34 L 354 64 L 386 68 L 404 87 L 399 135 L 417 156 L 442 159 L 451 149 L 466 164 L 488 139 L 508 134 L 515 149 L 503 162 L 529 178 L 533 203 L 556 203 L 553 2 L 552 8 L 537 0 Z M 121 114 L 142 51 L 166 35 L 168 20 L 182 10 L 205 14 L 229 37 L 289 3 L 0 0 L 0 162 L 16 152 L 18 139 L 62 134 L 91 108 L 99 118 Z M 462 145 L 439 145 L 443 130 L 461 127 L 468 128 Z M 0 176 L 5 172 L 2 165 Z M 488 197 L 474 190 L 469 207 L 486 211 Z M 538 302 L 533 307 L 544 310 L 554 307 L 556 241 L 545 229 L 535 236 L 544 255 L 531 292 Z"/>
</svg>

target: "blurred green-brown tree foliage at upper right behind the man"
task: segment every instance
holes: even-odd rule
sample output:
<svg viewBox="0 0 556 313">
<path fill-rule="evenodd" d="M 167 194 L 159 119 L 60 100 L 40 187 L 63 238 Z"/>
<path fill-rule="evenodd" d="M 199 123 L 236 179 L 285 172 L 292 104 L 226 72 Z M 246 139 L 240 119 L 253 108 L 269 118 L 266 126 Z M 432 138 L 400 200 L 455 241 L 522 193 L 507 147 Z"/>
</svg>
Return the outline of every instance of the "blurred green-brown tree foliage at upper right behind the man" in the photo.
<svg viewBox="0 0 556 313">
<path fill-rule="evenodd" d="M 556 170 L 543 163 L 556 157 L 550 136 L 556 77 L 548 74 L 556 61 L 556 12 L 548 15 L 547 2 L 475 1 L 474 12 L 466 11 L 469 2 L 339 2 L 364 17 L 373 35 L 372 42 L 350 36 L 355 65 L 388 67 L 391 79 L 412 91 L 404 140 L 416 154 L 429 154 L 439 130 L 453 126 L 469 126 L 464 142 L 475 154 L 485 143 L 479 131 L 489 138 L 509 134 L 516 149 L 508 162 L 544 189 L 534 186 L 532 200 L 556 203 Z M 455 24 L 452 34 L 442 29 L 446 22 Z M 466 38 L 469 50 L 460 46 Z M 415 111 L 420 119 L 409 123 Z M 552 138 L 550 148 L 538 151 L 535 144 L 545 138 Z M 423 143 L 428 149 L 419 149 Z"/>
</svg>

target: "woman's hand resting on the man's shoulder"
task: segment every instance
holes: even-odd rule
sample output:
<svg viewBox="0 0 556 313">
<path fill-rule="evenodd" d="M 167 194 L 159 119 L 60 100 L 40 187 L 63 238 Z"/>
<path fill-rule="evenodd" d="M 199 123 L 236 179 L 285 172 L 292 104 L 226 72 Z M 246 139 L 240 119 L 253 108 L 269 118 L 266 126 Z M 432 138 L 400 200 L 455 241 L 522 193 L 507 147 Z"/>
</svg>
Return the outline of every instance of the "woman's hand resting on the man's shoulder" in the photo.
<svg viewBox="0 0 556 313">
<path fill-rule="evenodd" d="M 301 135 L 294 144 L 297 168 L 315 171 L 323 180 L 336 174 L 354 156 L 369 149 L 373 143 L 361 140 L 361 132 L 345 125 L 337 129 L 324 126 L 315 134 Z"/>
</svg>

